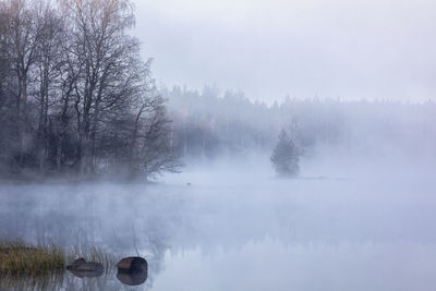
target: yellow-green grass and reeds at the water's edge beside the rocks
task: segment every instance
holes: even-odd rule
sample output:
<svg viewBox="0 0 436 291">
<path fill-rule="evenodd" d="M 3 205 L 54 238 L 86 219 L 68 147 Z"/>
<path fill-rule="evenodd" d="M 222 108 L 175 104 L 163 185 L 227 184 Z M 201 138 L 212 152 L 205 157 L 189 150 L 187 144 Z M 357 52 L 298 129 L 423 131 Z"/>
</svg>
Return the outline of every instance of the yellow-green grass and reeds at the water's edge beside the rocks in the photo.
<svg viewBox="0 0 436 291">
<path fill-rule="evenodd" d="M 21 241 L 0 240 L 0 276 L 40 276 L 63 272 L 65 265 L 78 257 L 97 262 L 109 269 L 113 255 L 98 247 L 64 250 L 56 245 L 32 245 Z"/>
</svg>

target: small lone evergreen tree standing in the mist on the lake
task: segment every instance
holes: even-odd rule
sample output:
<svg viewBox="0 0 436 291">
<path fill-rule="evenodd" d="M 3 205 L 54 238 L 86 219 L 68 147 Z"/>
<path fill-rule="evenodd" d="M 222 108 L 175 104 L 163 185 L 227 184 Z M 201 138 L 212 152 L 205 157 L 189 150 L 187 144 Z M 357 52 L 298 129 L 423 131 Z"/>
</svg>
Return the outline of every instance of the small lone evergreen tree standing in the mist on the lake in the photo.
<svg viewBox="0 0 436 291">
<path fill-rule="evenodd" d="M 272 167 L 280 175 L 295 177 L 300 173 L 300 150 L 284 130 L 279 135 L 270 159 Z"/>
</svg>

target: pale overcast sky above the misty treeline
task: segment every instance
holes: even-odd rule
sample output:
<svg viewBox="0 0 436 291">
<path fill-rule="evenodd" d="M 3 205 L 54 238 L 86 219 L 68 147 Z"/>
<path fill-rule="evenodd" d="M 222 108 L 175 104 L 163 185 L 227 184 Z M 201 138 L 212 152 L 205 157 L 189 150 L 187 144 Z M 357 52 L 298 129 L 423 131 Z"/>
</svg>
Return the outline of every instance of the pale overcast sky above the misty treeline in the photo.
<svg viewBox="0 0 436 291">
<path fill-rule="evenodd" d="M 435 0 L 136 0 L 169 86 L 291 97 L 436 100 Z"/>
</svg>

